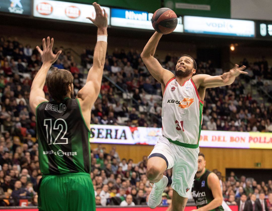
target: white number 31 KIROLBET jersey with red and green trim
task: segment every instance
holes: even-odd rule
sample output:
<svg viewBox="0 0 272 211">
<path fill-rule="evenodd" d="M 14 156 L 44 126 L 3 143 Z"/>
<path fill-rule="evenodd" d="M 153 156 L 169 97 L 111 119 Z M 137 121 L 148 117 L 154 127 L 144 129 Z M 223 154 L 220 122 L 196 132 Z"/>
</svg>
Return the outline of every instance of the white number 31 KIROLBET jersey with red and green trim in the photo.
<svg viewBox="0 0 272 211">
<path fill-rule="evenodd" d="M 177 145 L 197 148 L 203 103 L 192 78 L 182 86 L 175 77 L 171 78 L 165 86 L 162 100 L 162 135 Z"/>
</svg>

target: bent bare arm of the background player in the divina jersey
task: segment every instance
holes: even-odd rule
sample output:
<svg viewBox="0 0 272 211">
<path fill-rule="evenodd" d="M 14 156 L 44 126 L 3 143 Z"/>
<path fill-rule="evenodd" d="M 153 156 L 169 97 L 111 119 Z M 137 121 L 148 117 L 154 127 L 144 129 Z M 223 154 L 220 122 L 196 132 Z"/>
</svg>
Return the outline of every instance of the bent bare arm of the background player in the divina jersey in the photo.
<svg viewBox="0 0 272 211">
<path fill-rule="evenodd" d="M 222 195 L 220 182 L 217 175 L 214 173 L 209 174 L 207 182 L 208 182 L 208 187 L 212 191 L 212 196 L 214 197 L 214 200 L 212 200 L 209 204 L 203 207 L 200 207 L 199 209 L 197 209 L 197 211 L 213 210 L 216 207 L 219 207 L 222 205 L 223 195 Z"/>
</svg>

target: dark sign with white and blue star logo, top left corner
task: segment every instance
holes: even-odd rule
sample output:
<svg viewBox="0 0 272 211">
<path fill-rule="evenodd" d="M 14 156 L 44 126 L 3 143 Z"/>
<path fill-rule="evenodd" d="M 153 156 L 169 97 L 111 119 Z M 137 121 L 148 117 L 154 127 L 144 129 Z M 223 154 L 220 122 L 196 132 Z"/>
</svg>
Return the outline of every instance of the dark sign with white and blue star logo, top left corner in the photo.
<svg viewBox="0 0 272 211">
<path fill-rule="evenodd" d="M 31 0 L 1 0 L 0 12 L 31 15 Z"/>
</svg>

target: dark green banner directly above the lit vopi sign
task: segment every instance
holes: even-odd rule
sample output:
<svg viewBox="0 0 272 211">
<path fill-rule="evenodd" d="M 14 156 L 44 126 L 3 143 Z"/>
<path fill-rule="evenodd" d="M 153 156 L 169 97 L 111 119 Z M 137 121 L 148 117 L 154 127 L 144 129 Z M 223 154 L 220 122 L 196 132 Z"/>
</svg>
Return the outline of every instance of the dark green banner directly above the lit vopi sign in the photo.
<svg viewBox="0 0 272 211">
<path fill-rule="evenodd" d="M 177 15 L 230 18 L 230 0 L 165 0 L 164 7 Z"/>
</svg>

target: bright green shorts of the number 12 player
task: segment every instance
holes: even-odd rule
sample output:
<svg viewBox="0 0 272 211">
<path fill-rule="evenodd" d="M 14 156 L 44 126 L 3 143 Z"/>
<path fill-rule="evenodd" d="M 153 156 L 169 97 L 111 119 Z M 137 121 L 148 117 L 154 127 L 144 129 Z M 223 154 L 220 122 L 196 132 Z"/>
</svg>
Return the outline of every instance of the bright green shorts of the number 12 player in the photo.
<svg viewBox="0 0 272 211">
<path fill-rule="evenodd" d="M 95 211 L 92 180 L 88 173 L 44 175 L 39 182 L 39 211 Z"/>
</svg>

